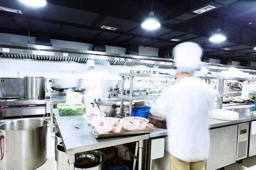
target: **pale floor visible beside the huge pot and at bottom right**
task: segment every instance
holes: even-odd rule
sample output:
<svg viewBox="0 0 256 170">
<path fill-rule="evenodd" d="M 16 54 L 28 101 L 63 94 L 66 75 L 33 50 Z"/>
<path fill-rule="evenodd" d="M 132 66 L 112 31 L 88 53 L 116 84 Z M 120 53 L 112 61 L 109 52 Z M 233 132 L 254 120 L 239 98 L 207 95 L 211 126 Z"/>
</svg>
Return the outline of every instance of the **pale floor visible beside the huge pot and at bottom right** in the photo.
<svg viewBox="0 0 256 170">
<path fill-rule="evenodd" d="M 52 136 L 54 136 L 54 133 L 51 133 L 50 127 L 48 127 L 47 161 L 36 170 L 56 170 L 56 161 L 55 161 L 55 155 L 54 155 L 54 149 L 53 149 L 54 139 L 52 139 Z M 247 167 L 252 167 L 253 165 L 256 165 L 256 156 L 243 159 L 243 164 L 239 164 L 239 163 L 231 164 L 225 167 L 225 170 L 243 170 L 243 169 L 246 169 Z M 252 170 L 256 170 L 256 167 L 254 167 Z"/>
</svg>

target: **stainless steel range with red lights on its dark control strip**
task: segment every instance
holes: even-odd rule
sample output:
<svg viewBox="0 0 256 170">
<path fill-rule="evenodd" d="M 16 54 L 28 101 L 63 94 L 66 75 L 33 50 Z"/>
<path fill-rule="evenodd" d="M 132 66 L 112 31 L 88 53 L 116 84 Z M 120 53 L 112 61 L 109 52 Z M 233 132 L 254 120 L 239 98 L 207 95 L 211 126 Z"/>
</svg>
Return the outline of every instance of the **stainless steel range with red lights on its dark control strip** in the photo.
<svg viewBox="0 0 256 170">
<path fill-rule="evenodd" d="M 46 113 L 46 99 L 18 99 L 0 100 L 0 109 L 4 117 L 41 115 Z"/>
</svg>

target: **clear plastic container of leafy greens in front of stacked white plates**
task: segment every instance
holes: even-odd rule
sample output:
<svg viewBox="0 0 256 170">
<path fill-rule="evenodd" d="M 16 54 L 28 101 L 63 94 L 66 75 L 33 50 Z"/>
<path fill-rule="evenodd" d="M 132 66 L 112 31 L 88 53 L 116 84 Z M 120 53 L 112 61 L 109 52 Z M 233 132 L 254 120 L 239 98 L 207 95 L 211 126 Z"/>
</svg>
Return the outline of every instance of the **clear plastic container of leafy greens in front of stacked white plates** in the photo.
<svg viewBox="0 0 256 170">
<path fill-rule="evenodd" d="M 67 104 L 67 103 L 59 103 L 57 105 L 59 115 L 76 115 L 84 113 L 84 104 Z"/>
</svg>

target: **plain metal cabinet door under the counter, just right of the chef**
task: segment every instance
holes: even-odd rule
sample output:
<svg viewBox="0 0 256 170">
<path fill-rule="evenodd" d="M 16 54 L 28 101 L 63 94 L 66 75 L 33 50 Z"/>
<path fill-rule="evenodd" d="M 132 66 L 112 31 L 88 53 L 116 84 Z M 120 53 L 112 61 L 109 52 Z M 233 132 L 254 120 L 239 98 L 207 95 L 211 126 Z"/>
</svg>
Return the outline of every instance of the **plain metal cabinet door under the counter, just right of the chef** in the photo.
<svg viewBox="0 0 256 170">
<path fill-rule="evenodd" d="M 238 125 L 210 130 L 207 170 L 216 170 L 236 162 Z"/>
</svg>

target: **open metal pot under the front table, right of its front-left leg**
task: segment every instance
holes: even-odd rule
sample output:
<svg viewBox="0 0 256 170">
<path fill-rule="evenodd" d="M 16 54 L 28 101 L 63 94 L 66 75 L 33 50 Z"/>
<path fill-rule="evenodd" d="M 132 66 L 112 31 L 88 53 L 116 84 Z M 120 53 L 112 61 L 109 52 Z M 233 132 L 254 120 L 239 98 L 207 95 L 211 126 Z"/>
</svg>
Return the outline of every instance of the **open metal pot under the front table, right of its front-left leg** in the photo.
<svg viewBox="0 0 256 170">
<path fill-rule="evenodd" d="M 75 162 L 75 170 L 105 170 L 106 156 L 104 155 L 104 153 L 96 150 L 90 150 L 87 152 L 76 153 L 75 157 L 77 158 L 78 156 L 84 154 L 91 154 L 95 156 L 93 167 L 77 167 L 77 163 Z"/>
</svg>

